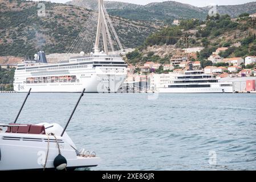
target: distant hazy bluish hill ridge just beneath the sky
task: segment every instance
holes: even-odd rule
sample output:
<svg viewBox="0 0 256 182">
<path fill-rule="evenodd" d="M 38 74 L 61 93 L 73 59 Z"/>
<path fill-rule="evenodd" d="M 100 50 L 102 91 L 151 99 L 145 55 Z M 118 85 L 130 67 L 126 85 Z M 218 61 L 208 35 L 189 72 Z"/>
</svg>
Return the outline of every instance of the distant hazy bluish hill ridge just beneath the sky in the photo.
<svg viewBox="0 0 256 182">
<path fill-rule="evenodd" d="M 175 1 L 165 1 L 159 3 L 149 3 L 148 5 L 133 5 L 131 3 L 104 1 L 109 9 L 109 14 L 122 16 L 128 19 L 164 21 L 171 23 L 173 19 L 179 18 L 199 18 L 205 19 L 211 7 L 196 7 Z M 97 9 L 97 0 L 73 0 L 70 5 Z M 232 18 L 242 13 L 256 13 L 256 2 L 245 3 L 234 6 L 218 6 L 219 14 L 229 14 Z"/>
</svg>

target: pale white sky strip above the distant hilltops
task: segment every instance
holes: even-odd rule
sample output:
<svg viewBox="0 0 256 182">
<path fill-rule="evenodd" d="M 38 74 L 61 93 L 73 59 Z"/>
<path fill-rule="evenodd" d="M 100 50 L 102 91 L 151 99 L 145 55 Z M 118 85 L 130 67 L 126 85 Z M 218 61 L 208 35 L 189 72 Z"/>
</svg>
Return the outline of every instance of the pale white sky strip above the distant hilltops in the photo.
<svg viewBox="0 0 256 182">
<path fill-rule="evenodd" d="M 49 0 L 47 0 L 49 1 Z M 51 2 L 60 2 L 64 3 L 68 0 L 50 0 Z M 122 1 L 122 2 L 129 2 L 129 3 L 136 3 L 139 5 L 146 5 L 151 2 L 164 2 L 166 0 L 108 0 L 108 1 Z M 181 3 L 188 3 L 193 6 L 203 7 L 209 5 L 239 5 L 247 2 L 254 2 L 251 0 L 176 0 L 177 2 Z"/>
</svg>

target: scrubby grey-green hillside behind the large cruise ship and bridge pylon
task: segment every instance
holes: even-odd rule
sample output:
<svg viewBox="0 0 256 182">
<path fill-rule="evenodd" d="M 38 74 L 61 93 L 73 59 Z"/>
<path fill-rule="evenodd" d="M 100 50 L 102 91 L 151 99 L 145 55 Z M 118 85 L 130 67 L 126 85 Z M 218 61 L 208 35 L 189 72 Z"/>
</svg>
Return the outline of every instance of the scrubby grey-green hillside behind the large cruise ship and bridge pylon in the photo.
<svg viewBox="0 0 256 182">
<path fill-rule="evenodd" d="M 0 56 L 34 55 L 39 49 L 66 53 L 94 11 L 72 5 L 43 2 L 46 16 L 38 16 L 38 2 L 0 0 Z M 140 46 L 156 31 L 155 23 L 112 16 L 125 48 Z M 96 32 L 91 32 L 96 34 Z"/>
</svg>

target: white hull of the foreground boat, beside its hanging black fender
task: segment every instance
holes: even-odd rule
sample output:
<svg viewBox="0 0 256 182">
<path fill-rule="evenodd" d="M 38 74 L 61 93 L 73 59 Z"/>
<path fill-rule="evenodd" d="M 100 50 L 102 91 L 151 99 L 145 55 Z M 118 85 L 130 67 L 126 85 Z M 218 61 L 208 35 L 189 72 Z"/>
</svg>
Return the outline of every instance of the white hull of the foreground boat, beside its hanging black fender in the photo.
<svg viewBox="0 0 256 182">
<path fill-rule="evenodd" d="M 100 158 L 78 155 L 66 133 L 63 137 L 56 134 L 56 138 L 61 155 L 67 160 L 67 169 L 95 167 L 100 163 Z M 59 154 L 58 144 L 54 136 L 49 136 L 49 140 L 47 135 L 42 134 L 0 133 L 0 171 L 43 169 L 46 157 L 46 170 L 54 169 L 54 159 Z"/>
</svg>

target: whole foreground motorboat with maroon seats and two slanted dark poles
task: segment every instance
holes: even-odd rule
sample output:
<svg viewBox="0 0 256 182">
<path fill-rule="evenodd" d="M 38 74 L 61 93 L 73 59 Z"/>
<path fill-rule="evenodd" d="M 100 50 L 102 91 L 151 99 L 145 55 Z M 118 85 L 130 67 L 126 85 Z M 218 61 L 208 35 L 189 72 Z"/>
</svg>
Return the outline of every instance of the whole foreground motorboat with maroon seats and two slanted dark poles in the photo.
<svg viewBox="0 0 256 182">
<path fill-rule="evenodd" d="M 30 91 L 27 97 L 29 94 Z M 26 100 L 23 102 L 22 108 Z M 16 121 L 22 108 L 14 123 L 1 124 L 0 171 L 74 170 L 97 166 L 100 163 L 100 158 L 96 157 L 96 153 L 84 149 L 78 150 L 66 133 L 68 123 L 79 101 L 64 129 L 57 123 L 17 124 Z"/>
</svg>

